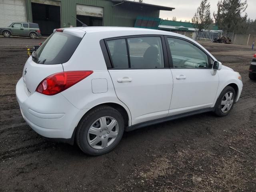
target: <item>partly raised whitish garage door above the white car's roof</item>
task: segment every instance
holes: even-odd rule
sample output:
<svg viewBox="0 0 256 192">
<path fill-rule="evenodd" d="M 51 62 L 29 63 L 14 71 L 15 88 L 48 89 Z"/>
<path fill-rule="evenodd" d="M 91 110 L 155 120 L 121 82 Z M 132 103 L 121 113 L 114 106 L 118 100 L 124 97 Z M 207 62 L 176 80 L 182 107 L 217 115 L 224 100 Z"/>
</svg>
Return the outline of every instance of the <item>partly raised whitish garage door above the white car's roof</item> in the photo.
<svg viewBox="0 0 256 192">
<path fill-rule="evenodd" d="M 103 17 L 103 7 L 76 5 L 76 14 L 92 17 Z"/>
</svg>

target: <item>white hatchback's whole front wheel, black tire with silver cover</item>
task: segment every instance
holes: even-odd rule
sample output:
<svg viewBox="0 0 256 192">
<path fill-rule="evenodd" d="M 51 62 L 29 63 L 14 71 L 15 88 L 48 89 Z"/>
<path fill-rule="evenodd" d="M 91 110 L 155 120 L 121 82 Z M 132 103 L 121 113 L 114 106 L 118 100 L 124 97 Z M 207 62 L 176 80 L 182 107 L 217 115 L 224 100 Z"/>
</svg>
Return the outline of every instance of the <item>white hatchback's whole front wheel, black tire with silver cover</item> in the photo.
<svg viewBox="0 0 256 192">
<path fill-rule="evenodd" d="M 231 96 L 231 93 L 232 93 L 232 96 Z M 236 98 L 236 92 L 234 88 L 230 86 L 226 86 L 222 90 L 218 100 L 216 101 L 214 113 L 220 117 L 223 117 L 229 114 L 234 106 L 235 98 Z"/>
</svg>

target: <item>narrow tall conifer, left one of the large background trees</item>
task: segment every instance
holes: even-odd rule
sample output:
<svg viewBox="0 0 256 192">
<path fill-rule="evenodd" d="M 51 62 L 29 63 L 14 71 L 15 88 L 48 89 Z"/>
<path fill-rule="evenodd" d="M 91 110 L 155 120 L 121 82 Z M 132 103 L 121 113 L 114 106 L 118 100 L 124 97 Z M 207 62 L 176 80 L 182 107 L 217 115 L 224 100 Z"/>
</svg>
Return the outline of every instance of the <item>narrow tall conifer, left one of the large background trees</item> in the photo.
<svg viewBox="0 0 256 192">
<path fill-rule="evenodd" d="M 203 29 L 209 29 L 213 21 L 210 12 L 210 3 L 208 0 L 202 0 L 200 6 L 197 8 L 194 17 L 192 18 L 194 28 L 199 32 Z"/>
</svg>

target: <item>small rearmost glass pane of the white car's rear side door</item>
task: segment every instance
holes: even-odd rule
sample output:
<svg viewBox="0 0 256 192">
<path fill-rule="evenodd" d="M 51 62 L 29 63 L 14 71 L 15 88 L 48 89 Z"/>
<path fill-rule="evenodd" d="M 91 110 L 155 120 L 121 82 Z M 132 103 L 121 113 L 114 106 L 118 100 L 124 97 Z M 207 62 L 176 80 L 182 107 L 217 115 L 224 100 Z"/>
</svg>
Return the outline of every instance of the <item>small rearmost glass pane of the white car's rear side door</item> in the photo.
<svg viewBox="0 0 256 192">
<path fill-rule="evenodd" d="M 114 68 L 129 68 L 125 39 L 107 41 Z"/>
</svg>

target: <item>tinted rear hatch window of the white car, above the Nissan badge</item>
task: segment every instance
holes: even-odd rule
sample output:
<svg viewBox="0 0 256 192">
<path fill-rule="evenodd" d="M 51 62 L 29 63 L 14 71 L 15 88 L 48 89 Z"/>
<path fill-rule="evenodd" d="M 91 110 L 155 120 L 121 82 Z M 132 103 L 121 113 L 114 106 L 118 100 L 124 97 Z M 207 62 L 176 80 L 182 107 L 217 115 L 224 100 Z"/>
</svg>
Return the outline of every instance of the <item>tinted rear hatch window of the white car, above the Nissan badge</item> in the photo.
<svg viewBox="0 0 256 192">
<path fill-rule="evenodd" d="M 33 52 L 32 59 L 38 64 L 66 63 L 81 40 L 82 38 L 71 34 L 54 32 L 36 52 Z"/>
</svg>

